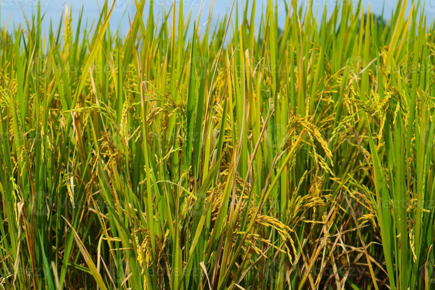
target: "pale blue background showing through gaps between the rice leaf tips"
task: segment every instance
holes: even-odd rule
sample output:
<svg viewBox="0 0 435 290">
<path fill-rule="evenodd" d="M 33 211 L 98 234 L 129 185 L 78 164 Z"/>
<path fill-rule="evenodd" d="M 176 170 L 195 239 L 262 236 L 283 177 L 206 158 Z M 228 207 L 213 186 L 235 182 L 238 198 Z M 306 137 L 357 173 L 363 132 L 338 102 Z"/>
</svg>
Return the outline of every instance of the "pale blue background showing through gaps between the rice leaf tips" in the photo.
<svg viewBox="0 0 435 290">
<path fill-rule="evenodd" d="M 79 15 L 79 10 L 81 9 L 82 5 L 84 8 L 84 17 L 89 17 L 89 19 L 92 19 L 94 17 L 99 17 L 100 15 L 100 7 L 102 4 L 104 4 L 104 1 L 98 0 L 98 1 L 87 1 L 87 0 L 68 0 L 68 1 L 56 1 L 56 0 L 40 0 L 42 3 L 41 11 L 43 13 L 46 13 L 46 17 L 43 20 L 43 28 L 48 27 L 50 23 L 50 19 L 57 19 L 59 17 L 59 14 L 62 13 L 65 10 L 65 4 L 67 4 L 69 7 L 72 7 L 71 14 L 73 16 L 73 24 L 77 23 L 77 18 Z M 117 7 L 115 7 L 114 13 L 110 17 L 110 24 L 114 27 L 117 27 L 120 24 L 120 32 L 121 33 L 127 33 L 129 23 L 128 23 L 128 13 L 133 15 L 135 13 L 136 8 L 134 7 L 134 1 L 133 0 L 117 0 Z M 149 7 L 150 0 L 146 1 L 146 5 Z M 154 13 L 157 14 L 161 12 L 161 10 L 169 9 L 172 6 L 171 0 L 154 0 Z M 176 5 L 180 5 L 181 3 L 184 4 L 184 11 L 187 14 L 187 12 L 191 11 L 192 15 L 198 15 L 200 8 L 202 8 L 204 11 L 210 10 L 211 6 L 211 0 L 176 0 Z M 239 3 L 246 3 L 246 1 L 238 1 Z M 261 17 L 261 9 L 267 4 L 267 0 L 259 0 L 256 1 L 255 7 L 257 10 L 256 14 L 256 23 L 260 20 Z M 318 13 L 318 20 L 321 20 L 323 7 L 325 5 L 327 9 L 327 16 L 330 17 L 331 14 L 334 11 L 335 3 L 343 3 L 344 1 L 340 0 L 315 0 L 314 1 L 314 7 L 313 10 L 316 11 L 319 10 Z M 429 3 L 431 1 L 428 1 Z M 2 5 L 0 6 L 0 17 L 1 22 L 7 22 L 9 16 L 11 17 L 11 23 L 19 24 L 24 23 L 25 19 L 23 17 L 26 15 L 29 17 L 32 12 L 37 11 L 37 0 L 2 0 Z M 251 9 L 252 7 L 252 1 L 248 1 L 248 7 Z M 279 0 L 278 3 L 282 5 L 284 3 L 283 0 Z M 308 3 L 307 1 L 298 0 L 298 6 L 305 5 Z M 381 14 L 382 9 L 384 9 L 387 13 L 394 10 L 397 5 L 396 0 L 385 0 L 385 1 L 369 1 L 369 0 L 363 0 L 361 1 L 365 5 L 365 10 L 367 10 L 368 4 L 370 4 L 370 10 L 375 14 Z M 211 25 L 216 25 L 218 22 L 218 19 L 222 16 L 224 16 L 226 13 L 229 13 L 231 11 L 231 6 L 233 4 L 233 1 L 231 0 L 221 0 L 219 1 L 218 5 L 214 5 L 213 7 L 213 14 L 211 15 Z M 356 2 L 354 3 L 356 5 Z M 412 2 L 408 1 L 406 5 L 407 11 L 411 9 Z M 431 9 L 431 6 L 429 4 L 423 5 L 422 3 L 422 9 L 425 12 L 425 15 L 428 17 L 428 21 L 433 20 L 435 18 L 435 9 Z M 127 13 L 124 15 L 124 12 L 127 11 Z M 147 17 L 148 10 L 144 11 L 144 17 Z M 278 25 L 284 26 L 285 24 L 285 10 L 279 10 L 277 13 L 277 19 L 278 19 Z M 390 19 L 391 16 L 385 16 L 386 19 Z M 208 14 L 204 13 L 201 17 L 201 20 L 199 23 L 204 23 L 208 19 Z M 233 18 L 234 19 L 234 18 Z M 171 22 L 171 20 L 169 20 Z M 258 28 L 258 27 L 257 27 Z"/>
</svg>

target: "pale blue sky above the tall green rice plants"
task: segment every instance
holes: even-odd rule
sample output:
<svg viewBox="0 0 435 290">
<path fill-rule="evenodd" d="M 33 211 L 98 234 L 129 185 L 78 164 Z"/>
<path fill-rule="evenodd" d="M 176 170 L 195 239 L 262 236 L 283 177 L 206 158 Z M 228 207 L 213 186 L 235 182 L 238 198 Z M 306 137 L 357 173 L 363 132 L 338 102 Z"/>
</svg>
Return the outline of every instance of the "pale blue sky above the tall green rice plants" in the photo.
<svg viewBox="0 0 435 290">
<path fill-rule="evenodd" d="M 0 0 L 0 23 L 9 23 L 9 28 L 17 26 L 19 23 L 24 22 L 23 13 L 27 16 L 32 14 L 37 8 L 37 3 L 40 1 L 43 11 L 46 13 L 44 20 L 44 25 L 48 26 L 49 19 L 52 18 L 54 25 L 57 25 L 59 21 L 60 14 L 65 9 L 65 3 L 69 7 L 72 5 L 73 18 L 77 19 L 76 15 L 80 7 L 84 7 L 84 16 L 87 17 L 89 22 L 97 17 L 99 11 L 99 2 L 103 3 L 102 0 Z M 149 3 L 151 0 L 146 0 Z M 212 0 L 175 0 L 177 4 L 184 4 L 184 11 L 187 13 L 189 10 L 192 13 L 192 17 L 196 19 L 200 9 L 203 10 L 201 21 L 205 21 L 207 18 L 208 11 L 210 10 Z M 202 4 L 201 4 L 202 1 Z M 245 1 L 237 0 L 239 4 L 244 5 Z M 328 11 L 331 11 L 337 1 L 348 1 L 348 0 L 314 0 L 314 7 L 318 7 L 321 11 L 326 3 Z M 109 1 L 110 2 L 110 1 Z M 173 0 L 154 0 L 154 10 L 158 13 L 159 11 L 168 8 Z M 298 0 L 300 5 L 305 5 L 308 0 Z M 354 2 L 357 2 L 356 0 Z M 408 9 L 411 7 L 412 0 L 408 1 Z M 423 5 L 418 7 L 419 10 L 426 13 L 428 20 L 432 21 L 435 18 L 435 0 L 426 0 L 425 9 L 423 10 Z M 215 0 L 213 6 L 213 17 L 212 21 L 216 21 L 220 16 L 228 13 L 231 10 L 232 0 Z M 261 7 L 267 3 L 267 0 L 257 0 L 257 9 L 261 10 Z M 278 0 L 278 7 L 283 8 L 281 5 L 284 3 L 283 0 Z M 385 17 L 389 18 L 391 11 L 396 7 L 396 0 L 364 0 L 363 1 L 365 10 L 367 10 L 368 4 L 370 4 L 371 11 L 375 13 L 381 13 L 382 7 L 385 5 Z M 356 5 L 356 4 L 354 4 Z M 316 9 L 316 8 L 315 8 Z M 278 15 L 278 22 L 282 23 L 285 19 L 284 9 L 279 9 L 281 12 Z M 117 26 L 120 24 L 120 32 L 125 33 L 128 30 L 128 14 L 124 14 L 124 11 L 134 14 L 134 0 L 116 0 L 115 10 L 111 18 L 111 25 Z M 319 16 L 321 13 L 319 12 Z M 212 23 L 213 24 L 213 23 Z"/>
</svg>

